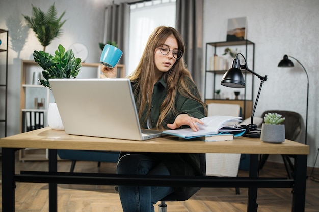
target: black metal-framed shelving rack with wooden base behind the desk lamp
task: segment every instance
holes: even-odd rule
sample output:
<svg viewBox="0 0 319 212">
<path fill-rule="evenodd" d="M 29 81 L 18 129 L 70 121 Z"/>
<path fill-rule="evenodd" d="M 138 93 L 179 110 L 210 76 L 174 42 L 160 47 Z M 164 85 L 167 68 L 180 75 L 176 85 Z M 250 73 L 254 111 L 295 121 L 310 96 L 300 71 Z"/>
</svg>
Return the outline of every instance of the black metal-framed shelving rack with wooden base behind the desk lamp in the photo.
<svg viewBox="0 0 319 212">
<path fill-rule="evenodd" d="M 235 90 L 234 88 L 228 88 L 220 85 L 220 81 L 224 73 L 231 67 L 232 58 L 224 58 L 227 61 L 227 65 L 222 68 L 214 69 L 212 61 L 224 53 L 225 48 L 235 48 L 238 53 L 245 56 L 247 65 L 250 69 L 254 70 L 254 54 L 255 44 L 249 40 L 243 41 L 223 41 L 223 42 L 211 42 L 206 43 L 206 64 L 205 64 L 205 104 L 209 103 L 223 103 L 223 104 L 238 104 L 242 108 L 243 119 L 251 116 L 253 107 L 253 75 L 246 70 L 242 70 L 243 76 L 246 81 L 246 87 L 243 89 Z M 226 56 L 225 56 L 226 57 Z M 244 61 L 241 59 L 241 64 L 244 65 Z M 215 61 L 216 62 L 216 61 Z M 216 68 L 216 66 L 215 66 Z M 217 98 L 215 95 L 216 90 L 221 89 L 224 94 L 221 98 Z M 235 99 L 234 91 L 240 91 L 242 94 L 239 99 Z"/>
</svg>

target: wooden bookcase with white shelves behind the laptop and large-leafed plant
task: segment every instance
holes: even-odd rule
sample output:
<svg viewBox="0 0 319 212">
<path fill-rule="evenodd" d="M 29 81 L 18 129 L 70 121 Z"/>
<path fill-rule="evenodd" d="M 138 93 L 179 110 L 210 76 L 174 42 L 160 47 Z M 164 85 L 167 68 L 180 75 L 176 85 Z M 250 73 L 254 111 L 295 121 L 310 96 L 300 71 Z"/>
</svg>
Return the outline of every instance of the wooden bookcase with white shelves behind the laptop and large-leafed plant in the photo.
<svg viewBox="0 0 319 212">
<path fill-rule="evenodd" d="M 119 77 L 125 77 L 125 66 L 118 64 Z M 42 68 L 33 60 L 22 60 L 21 65 L 21 96 L 20 96 L 20 132 L 25 132 L 25 118 L 26 112 L 43 112 L 44 123 L 43 127 L 47 127 L 47 109 L 50 102 L 54 102 L 54 96 L 50 89 L 42 85 L 33 84 L 33 75 L 41 73 Z M 40 75 L 42 76 L 42 74 Z M 81 71 L 77 78 L 101 78 L 100 64 L 99 63 L 82 63 Z M 37 81 L 37 80 L 36 80 Z M 44 107 L 41 109 L 35 108 L 34 98 L 44 98 Z M 47 160 L 46 149 L 21 149 L 19 152 L 19 160 Z"/>
</svg>

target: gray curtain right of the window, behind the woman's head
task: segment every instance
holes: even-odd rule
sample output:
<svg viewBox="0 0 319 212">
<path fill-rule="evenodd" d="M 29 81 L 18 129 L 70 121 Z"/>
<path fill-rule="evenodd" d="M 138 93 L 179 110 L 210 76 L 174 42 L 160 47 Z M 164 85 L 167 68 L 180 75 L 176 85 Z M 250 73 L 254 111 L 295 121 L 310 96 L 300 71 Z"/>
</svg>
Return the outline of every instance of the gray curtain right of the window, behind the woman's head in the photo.
<svg viewBox="0 0 319 212">
<path fill-rule="evenodd" d="M 185 63 L 196 83 L 202 87 L 203 0 L 176 1 L 176 29 L 184 39 Z"/>
</svg>

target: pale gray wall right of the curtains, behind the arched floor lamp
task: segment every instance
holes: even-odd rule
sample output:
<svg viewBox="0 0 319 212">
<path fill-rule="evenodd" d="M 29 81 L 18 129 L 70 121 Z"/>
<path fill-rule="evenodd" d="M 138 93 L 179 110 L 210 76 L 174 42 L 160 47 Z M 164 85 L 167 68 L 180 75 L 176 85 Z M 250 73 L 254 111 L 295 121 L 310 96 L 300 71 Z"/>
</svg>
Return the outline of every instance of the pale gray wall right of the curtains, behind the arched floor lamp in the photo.
<svg viewBox="0 0 319 212">
<path fill-rule="evenodd" d="M 319 1 L 317 0 L 205 0 L 203 43 L 226 41 L 227 20 L 247 17 L 247 39 L 255 43 L 255 72 L 268 80 L 263 84 L 255 116 L 270 109 L 291 110 L 306 120 L 307 77 L 291 59 L 294 68 L 278 68 L 284 54 L 297 58 L 309 75 L 308 166 L 313 166 L 319 147 L 318 71 L 315 69 L 319 41 Z M 205 49 L 205 48 L 204 48 Z M 205 54 L 204 54 L 205 55 Z M 250 66 L 248 64 L 248 66 Z M 204 73 L 203 73 L 204 75 Z M 256 98 L 260 80 L 255 77 Z M 280 146 L 278 146 L 280 147 Z M 269 160 L 282 161 L 280 158 Z M 317 162 L 316 167 L 319 167 Z"/>
</svg>

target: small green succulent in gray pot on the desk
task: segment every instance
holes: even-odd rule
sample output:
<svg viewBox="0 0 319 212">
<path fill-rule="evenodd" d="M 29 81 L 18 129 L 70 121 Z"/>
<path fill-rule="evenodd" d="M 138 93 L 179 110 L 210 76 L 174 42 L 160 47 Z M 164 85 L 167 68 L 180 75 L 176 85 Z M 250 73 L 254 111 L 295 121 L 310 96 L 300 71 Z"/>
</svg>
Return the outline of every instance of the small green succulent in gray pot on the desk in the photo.
<svg viewBox="0 0 319 212">
<path fill-rule="evenodd" d="M 281 124 L 285 118 L 278 113 L 268 113 L 264 116 L 261 126 L 260 140 L 271 143 L 285 141 L 285 125 Z"/>
</svg>

